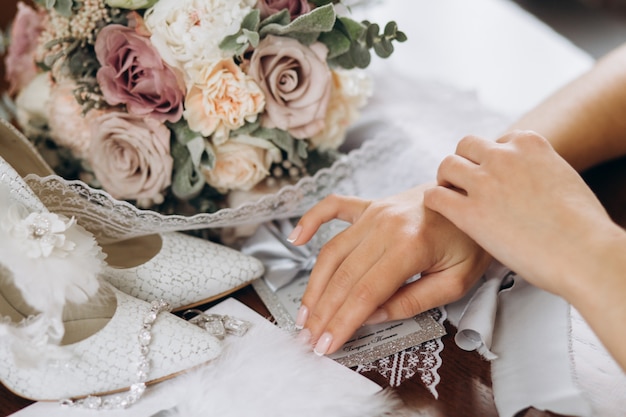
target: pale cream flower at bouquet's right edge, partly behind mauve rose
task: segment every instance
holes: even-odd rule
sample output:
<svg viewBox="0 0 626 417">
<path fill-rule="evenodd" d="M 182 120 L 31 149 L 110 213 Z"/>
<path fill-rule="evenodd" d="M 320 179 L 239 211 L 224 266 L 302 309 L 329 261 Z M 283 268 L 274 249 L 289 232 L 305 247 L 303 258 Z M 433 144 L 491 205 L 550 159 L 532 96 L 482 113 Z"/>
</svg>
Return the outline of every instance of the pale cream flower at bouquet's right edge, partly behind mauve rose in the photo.
<svg viewBox="0 0 626 417">
<path fill-rule="evenodd" d="M 370 77 L 359 70 L 335 70 L 324 129 L 310 138 L 314 148 L 337 149 L 346 131 L 359 117 L 359 110 L 372 95 Z"/>
</svg>

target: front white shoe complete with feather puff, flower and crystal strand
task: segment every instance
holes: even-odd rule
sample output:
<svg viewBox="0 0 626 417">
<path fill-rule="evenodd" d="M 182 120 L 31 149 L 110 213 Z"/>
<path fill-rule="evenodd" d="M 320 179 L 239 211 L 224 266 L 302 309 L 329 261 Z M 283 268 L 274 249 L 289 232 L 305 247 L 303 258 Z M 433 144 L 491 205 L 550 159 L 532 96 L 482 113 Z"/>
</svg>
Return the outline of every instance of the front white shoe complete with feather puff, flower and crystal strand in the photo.
<svg viewBox="0 0 626 417">
<path fill-rule="evenodd" d="M 163 311 L 166 303 L 101 283 L 103 258 L 89 232 L 48 212 L 0 158 L 0 381 L 9 390 L 124 407 L 146 384 L 219 355 L 219 340 Z"/>
</svg>

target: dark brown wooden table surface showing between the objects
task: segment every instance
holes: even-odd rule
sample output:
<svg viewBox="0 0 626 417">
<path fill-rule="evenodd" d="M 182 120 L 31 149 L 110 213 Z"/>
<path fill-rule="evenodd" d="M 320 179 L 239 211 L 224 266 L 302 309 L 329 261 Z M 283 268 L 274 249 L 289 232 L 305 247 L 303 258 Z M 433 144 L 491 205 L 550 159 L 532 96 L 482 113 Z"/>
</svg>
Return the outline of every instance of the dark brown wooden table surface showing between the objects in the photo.
<svg viewBox="0 0 626 417">
<path fill-rule="evenodd" d="M 15 0 L 2 0 L 0 25 L 6 27 L 15 13 Z M 0 78 L 4 79 L 3 65 L 0 63 Z M 6 83 L 0 85 L 4 91 Z M 588 173 L 585 178 L 609 210 L 613 218 L 626 226 L 626 159 L 605 164 Z M 234 296 L 264 316 L 269 312 L 250 288 L 238 291 Z M 493 401 L 489 363 L 475 352 L 459 349 L 453 340 L 454 329 L 446 324 L 448 335 L 443 338 L 444 350 L 441 353 L 443 364 L 439 369 L 441 382 L 437 386 L 439 399 L 433 398 L 419 378 L 405 381 L 394 388 L 407 407 L 420 410 L 425 415 L 492 417 L 497 416 Z M 368 374 L 369 378 L 384 385 L 378 374 Z M 16 412 L 32 402 L 22 399 L 0 385 L 0 416 Z M 518 417 L 551 416 L 554 414 L 525 410 Z"/>
</svg>

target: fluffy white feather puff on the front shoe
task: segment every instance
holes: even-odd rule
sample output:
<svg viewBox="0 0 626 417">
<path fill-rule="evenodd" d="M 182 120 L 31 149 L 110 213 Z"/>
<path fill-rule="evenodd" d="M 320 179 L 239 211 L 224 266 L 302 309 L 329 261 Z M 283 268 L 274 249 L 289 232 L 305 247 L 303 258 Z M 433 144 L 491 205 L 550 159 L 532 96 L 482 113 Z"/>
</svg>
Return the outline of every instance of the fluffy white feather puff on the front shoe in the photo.
<svg viewBox="0 0 626 417">
<path fill-rule="evenodd" d="M 11 299 L 3 302 L 26 310 L 20 311 L 24 316 L 22 322 L 3 320 L 0 335 L 2 342 L 10 345 L 16 360 L 36 365 L 43 359 L 57 356 L 55 345 L 64 334 L 65 304 L 84 303 L 97 293 L 104 255 L 91 234 L 65 218 L 53 224 L 62 226 L 56 236 L 60 240 L 55 241 L 61 242 L 61 249 L 54 247 L 50 253 L 33 255 L 29 249 L 38 248 L 37 242 L 24 234 L 23 227 L 20 229 L 30 214 L 15 195 L 0 184 L 0 272 L 3 278 L 0 283 L 14 285 L 19 290 L 19 293 L 9 291 L 7 296 Z M 56 219 L 47 211 L 43 214 Z M 32 309 L 24 306 L 24 302 Z"/>
</svg>

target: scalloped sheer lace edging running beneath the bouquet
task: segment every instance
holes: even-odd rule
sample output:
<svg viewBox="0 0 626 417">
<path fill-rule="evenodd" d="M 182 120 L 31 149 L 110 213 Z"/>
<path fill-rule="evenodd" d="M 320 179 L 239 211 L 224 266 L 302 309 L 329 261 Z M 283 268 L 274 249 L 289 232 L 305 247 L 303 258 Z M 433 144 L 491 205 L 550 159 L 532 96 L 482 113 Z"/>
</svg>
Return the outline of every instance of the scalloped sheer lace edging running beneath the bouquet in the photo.
<svg viewBox="0 0 626 417">
<path fill-rule="evenodd" d="M 99 243 L 106 244 L 158 232 L 234 227 L 300 216 L 330 193 L 356 194 L 352 181 L 355 170 L 388 158 L 394 149 L 393 142 L 388 138 L 369 140 L 331 167 L 294 185 L 283 186 L 274 194 L 239 207 L 193 216 L 141 210 L 82 181 L 68 181 L 57 175 L 41 178 L 29 174 L 25 179 L 50 211 L 75 217 Z"/>
</svg>

